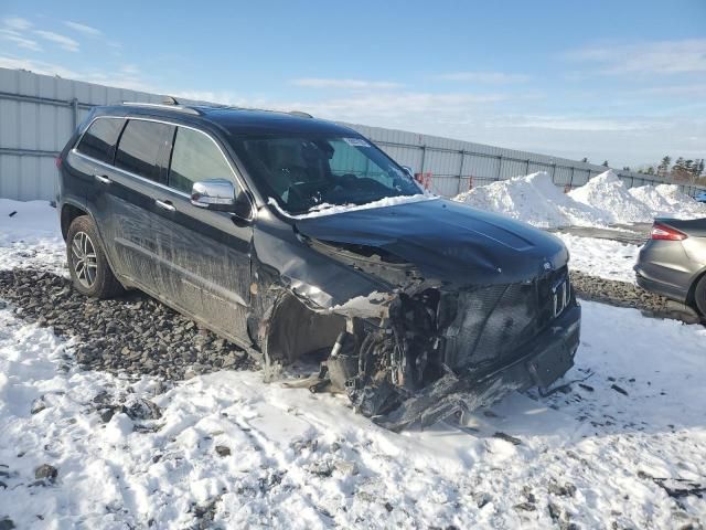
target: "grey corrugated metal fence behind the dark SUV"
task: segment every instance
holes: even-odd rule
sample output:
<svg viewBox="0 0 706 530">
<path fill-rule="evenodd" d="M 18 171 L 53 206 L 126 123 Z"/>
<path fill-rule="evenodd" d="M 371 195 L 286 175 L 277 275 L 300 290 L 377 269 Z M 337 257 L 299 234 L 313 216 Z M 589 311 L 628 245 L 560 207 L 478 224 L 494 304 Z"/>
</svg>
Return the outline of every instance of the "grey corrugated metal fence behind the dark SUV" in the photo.
<svg viewBox="0 0 706 530">
<path fill-rule="evenodd" d="M 54 158 L 89 108 L 120 102 L 160 103 L 162 96 L 0 68 L 0 197 L 52 200 Z M 349 125 L 415 172 L 431 173 L 431 189 L 456 195 L 471 186 L 547 171 L 557 186 L 577 187 L 606 170 L 601 166 L 535 152 L 503 149 L 404 130 Z M 657 178 L 618 171 L 629 186 Z M 689 194 L 695 187 L 682 187 Z"/>
</svg>

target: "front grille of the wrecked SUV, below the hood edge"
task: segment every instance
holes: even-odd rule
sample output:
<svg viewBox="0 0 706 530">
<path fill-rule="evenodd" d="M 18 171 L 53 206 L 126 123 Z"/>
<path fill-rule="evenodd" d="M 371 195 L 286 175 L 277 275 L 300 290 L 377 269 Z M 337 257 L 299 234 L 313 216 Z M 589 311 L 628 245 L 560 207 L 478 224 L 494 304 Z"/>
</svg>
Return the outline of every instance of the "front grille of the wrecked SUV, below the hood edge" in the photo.
<svg viewBox="0 0 706 530">
<path fill-rule="evenodd" d="M 512 361 L 571 299 L 566 267 L 532 282 L 442 296 L 457 297 L 457 314 L 442 332 L 445 362 L 452 369 Z"/>
</svg>

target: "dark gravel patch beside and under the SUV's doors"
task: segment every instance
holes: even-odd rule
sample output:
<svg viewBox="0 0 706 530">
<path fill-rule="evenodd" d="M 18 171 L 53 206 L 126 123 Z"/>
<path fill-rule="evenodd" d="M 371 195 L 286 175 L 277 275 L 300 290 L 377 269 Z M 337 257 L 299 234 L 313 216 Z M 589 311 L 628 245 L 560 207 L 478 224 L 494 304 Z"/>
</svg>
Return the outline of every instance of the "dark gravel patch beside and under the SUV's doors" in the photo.
<svg viewBox="0 0 706 530">
<path fill-rule="evenodd" d="M 86 369 L 175 381 L 256 365 L 245 351 L 139 292 L 97 300 L 62 276 L 14 269 L 0 271 L 0 298 L 18 317 L 73 337 L 75 359 Z"/>
</svg>

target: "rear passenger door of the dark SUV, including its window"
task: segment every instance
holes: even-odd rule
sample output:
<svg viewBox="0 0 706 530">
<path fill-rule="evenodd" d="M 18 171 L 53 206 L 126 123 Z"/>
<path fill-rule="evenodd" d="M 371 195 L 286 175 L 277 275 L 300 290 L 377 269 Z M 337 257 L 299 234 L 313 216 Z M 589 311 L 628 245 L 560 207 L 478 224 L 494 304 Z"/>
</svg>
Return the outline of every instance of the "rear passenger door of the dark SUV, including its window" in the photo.
<svg viewBox="0 0 706 530">
<path fill-rule="evenodd" d="M 165 188 L 173 135 L 173 125 L 129 118 L 114 165 L 105 165 L 94 182 L 93 211 L 105 231 L 110 263 L 129 284 L 152 293 L 160 287 L 152 216 L 159 190 Z"/>
</svg>

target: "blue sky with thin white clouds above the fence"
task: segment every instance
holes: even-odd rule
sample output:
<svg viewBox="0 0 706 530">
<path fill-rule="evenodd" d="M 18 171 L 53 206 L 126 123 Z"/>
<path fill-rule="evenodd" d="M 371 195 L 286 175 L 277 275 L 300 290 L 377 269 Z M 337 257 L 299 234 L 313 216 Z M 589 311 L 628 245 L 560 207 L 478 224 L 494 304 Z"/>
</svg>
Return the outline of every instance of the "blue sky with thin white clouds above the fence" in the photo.
<svg viewBox="0 0 706 530">
<path fill-rule="evenodd" d="M 704 0 L 192 6 L 4 0 L 0 66 L 613 167 L 706 157 Z"/>
</svg>

